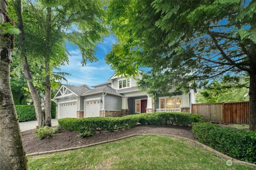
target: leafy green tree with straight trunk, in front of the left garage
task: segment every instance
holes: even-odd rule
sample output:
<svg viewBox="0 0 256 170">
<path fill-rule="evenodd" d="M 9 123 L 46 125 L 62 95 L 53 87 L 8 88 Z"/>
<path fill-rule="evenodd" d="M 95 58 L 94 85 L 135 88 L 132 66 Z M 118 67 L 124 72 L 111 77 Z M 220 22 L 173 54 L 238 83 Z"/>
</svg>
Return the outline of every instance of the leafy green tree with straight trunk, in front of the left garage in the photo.
<svg viewBox="0 0 256 170">
<path fill-rule="evenodd" d="M 82 0 L 22 1 L 25 48 L 32 82 L 45 89 L 44 125 L 51 125 L 51 82 L 53 77 L 56 78 L 52 71 L 68 62 L 66 42 L 79 47 L 83 64 L 97 60 L 94 56 L 95 44 L 107 31 L 104 3 Z"/>
</svg>

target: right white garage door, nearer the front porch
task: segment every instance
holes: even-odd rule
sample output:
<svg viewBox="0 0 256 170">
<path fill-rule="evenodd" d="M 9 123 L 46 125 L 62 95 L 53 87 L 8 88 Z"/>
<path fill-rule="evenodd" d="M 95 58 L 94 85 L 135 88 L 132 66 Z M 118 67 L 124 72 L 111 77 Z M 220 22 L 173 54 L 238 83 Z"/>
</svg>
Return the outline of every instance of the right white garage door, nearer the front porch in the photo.
<svg viewBox="0 0 256 170">
<path fill-rule="evenodd" d="M 100 100 L 84 101 L 85 117 L 100 116 Z"/>
</svg>

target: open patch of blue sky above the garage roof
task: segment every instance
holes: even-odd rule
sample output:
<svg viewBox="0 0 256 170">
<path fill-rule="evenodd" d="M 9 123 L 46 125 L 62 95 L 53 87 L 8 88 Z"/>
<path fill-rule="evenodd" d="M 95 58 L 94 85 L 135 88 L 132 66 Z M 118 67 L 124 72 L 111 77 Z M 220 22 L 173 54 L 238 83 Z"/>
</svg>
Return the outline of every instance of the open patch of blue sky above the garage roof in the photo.
<svg viewBox="0 0 256 170">
<path fill-rule="evenodd" d="M 75 86 L 86 84 L 91 87 L 95 84 L 106 82 L 114 74 L 114 70 L 111 70 L 110 66 L 106 64 L 104 57 L 110 52 L 115 42 L 114 35 L 104 37 L 103 42 L 96 47 L 95 56 L 98 62 L 88 62 L 85 66 L 81 64 L 82 56 L 78 47 L 67 43 L 67 49 L 70 53 L 69 64 L 60 66 L 60 71 L 72 74 L 72 76 L 66 76 L 68 82 L 62 81 L 62 83 Z"/>
</svg>

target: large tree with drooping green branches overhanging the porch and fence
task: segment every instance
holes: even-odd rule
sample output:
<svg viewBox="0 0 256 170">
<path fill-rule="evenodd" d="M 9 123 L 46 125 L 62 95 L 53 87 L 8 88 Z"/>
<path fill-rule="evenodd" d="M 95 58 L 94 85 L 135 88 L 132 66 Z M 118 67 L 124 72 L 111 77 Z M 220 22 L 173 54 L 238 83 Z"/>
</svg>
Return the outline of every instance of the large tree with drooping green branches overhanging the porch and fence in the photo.
<svg viewBox="0 0 256 170">
<path fill-rule="evenodd" d="M 113 69 L 133 74 L 150 67 L 141 83 L 152 91 L 247 73 L 256 131 L 255 1 L 113 0 L 108 10 L 119 40 L 106 57 Z"/>
</svg>

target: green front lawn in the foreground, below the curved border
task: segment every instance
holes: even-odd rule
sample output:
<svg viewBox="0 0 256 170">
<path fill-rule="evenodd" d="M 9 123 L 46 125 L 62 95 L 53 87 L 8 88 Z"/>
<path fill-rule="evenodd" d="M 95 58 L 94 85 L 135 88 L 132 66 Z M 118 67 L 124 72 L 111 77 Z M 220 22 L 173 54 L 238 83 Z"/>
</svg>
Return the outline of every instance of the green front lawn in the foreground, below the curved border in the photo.
<svg viewBox="0 0 256 170">
<path fill-rule="evenodd" d="M 253 169 L 213 155 L 193 142 L 143 135 L 104 145 L 28 157 L 29 169 Z"/>
</svg>

